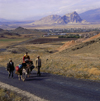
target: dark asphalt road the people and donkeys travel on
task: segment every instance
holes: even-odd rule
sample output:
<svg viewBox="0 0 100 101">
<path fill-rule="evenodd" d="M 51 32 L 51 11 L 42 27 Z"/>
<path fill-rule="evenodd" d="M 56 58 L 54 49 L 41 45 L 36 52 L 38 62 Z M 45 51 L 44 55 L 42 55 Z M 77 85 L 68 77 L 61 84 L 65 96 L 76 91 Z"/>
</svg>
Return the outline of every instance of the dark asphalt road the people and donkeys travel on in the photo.
<svg viewBox="0 0 100 101">
<path fill-rule="evenodd" d="M 62 76 L 42 73 L 37 77 L 35 71 L 25 82 L 7 77 L 7 71 L 0 67 L 0 81 L 28 91 L 50 101 L 100 101 L 100 82 L 76 80 Z"/>
</svg>

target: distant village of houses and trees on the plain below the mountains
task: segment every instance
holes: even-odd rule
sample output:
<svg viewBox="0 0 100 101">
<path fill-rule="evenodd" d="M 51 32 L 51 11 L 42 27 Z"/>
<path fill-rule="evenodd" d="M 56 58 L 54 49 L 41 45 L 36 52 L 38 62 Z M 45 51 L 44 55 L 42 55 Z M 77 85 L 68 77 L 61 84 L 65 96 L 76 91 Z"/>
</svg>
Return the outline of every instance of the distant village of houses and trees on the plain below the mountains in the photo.
<svg viewBox="0 0 100 101">
<path fill-rule="evenodd" d="M 58 36 L 59 38 L 69 38 L 78 36 L 78 38 L 89 38 L 100 33 L 100 28 L 95 29 L 48 29 L 44 30 L 46 34 L 43 37 Z"/>
</svg>

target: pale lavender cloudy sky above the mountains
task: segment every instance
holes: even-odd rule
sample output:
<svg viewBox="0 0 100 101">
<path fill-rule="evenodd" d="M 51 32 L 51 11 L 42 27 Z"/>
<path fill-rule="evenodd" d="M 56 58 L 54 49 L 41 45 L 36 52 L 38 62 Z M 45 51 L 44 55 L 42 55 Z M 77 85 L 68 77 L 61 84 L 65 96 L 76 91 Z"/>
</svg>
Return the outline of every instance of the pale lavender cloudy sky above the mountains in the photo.
<svg viewBox="0 0 100 101">
<path fill-rule="evenodd" d="M 100 8 L 100 0 L 0 0 L 0 18 L 36 20 L 48 15 L 78 14 Z"/>
</svg>

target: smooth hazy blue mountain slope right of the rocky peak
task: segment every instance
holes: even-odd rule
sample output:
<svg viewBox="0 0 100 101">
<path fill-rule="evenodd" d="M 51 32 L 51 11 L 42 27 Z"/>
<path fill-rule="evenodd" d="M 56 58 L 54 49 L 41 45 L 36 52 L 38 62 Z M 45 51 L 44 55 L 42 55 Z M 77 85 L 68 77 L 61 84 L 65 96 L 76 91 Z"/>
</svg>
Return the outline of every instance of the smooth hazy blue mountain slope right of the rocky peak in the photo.
<svg viewBox="0 0 100 101">
<path fill-rule="evenodd" d="M 82 19 L 88 22 L 100 23 L 100 8 L 86 11 L 79 14 Z"/>
</svg>

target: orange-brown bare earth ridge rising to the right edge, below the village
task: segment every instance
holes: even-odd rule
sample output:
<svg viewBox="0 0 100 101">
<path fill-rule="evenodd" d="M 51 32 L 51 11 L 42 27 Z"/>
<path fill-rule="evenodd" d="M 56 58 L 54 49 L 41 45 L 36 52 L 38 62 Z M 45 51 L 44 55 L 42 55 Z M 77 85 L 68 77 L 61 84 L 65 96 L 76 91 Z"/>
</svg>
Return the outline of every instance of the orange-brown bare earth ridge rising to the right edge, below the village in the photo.
<svg viewBox="0 0 100 101">
<path fill-rule="evenodd" d="M 59 47 L 57 50 L 59 52 L 67 50 L 67 49 L 71 49 L 72 51 L 75 51 L 75 50 L 90 46 L 94 43 L 96 44 L 98 42 L 100 42 L 100 34 L 97 34 L 97 35 L 87 38 L 85 40 L 81 39 L 80 43 L 77 40 L 68 41 L 63 46 Z M 91 49 L 90 49 L 90 51 L 91 51 Z"/>
</svg>

